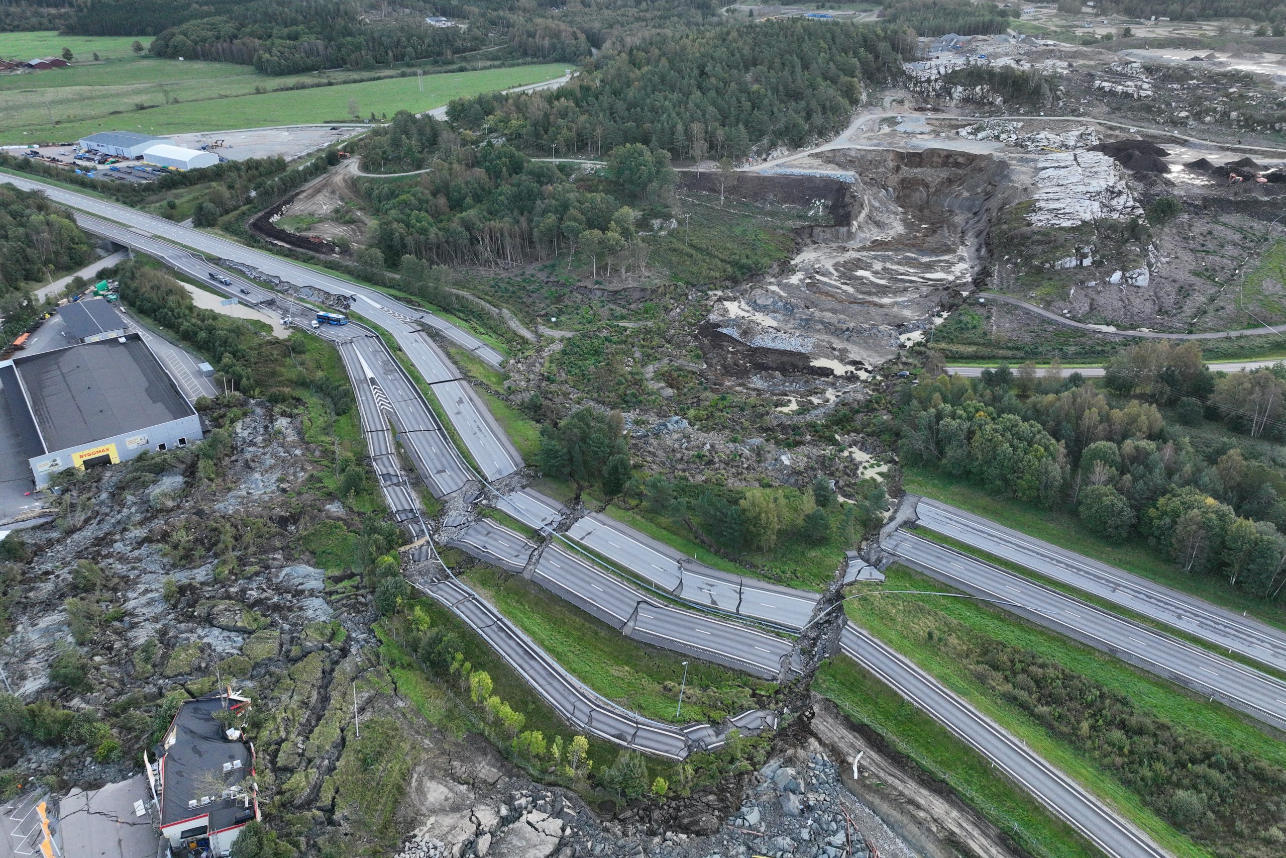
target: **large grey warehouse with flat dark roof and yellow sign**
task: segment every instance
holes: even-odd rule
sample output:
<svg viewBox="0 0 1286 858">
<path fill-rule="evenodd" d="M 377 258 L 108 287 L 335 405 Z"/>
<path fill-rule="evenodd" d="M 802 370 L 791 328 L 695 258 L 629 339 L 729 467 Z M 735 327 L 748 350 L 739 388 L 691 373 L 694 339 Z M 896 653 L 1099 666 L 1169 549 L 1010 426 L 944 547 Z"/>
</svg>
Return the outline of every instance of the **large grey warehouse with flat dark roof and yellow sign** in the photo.
<svg viewBox="0 0 1286 858">
<path fill-rule="evenodd" d="M 201 440 L 197 412 L 136 333 L 0 361 L 0 385 L 37 488 Z"/>
</svg>

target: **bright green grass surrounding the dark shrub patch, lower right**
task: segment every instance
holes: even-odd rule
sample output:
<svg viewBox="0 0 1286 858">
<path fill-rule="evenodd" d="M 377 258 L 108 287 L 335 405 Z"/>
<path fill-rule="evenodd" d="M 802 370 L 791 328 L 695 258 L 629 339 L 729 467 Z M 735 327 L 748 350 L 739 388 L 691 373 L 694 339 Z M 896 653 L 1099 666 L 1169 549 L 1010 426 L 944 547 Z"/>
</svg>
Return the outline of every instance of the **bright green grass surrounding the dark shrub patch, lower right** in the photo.
<svg viewBox="0 0 1286 858">
<path fill-rule="evenodd" d="M 882 585 L 887 589 L 950 589 L 899 566 L 890 567 L 887 576 Z M 1143 803 L 1143 796 L 1124 786 L 1106 768 L 1092 763 L 1069 742 L 1052 736 L 1016 704 L 990 692 L 970 665 L 953 657 L 950 647 L 943 641 L 950 635 L 968 641 L 992 638 L 1034 650 L 1069 670 L 1125 695 L 1141 714 L 1164 719 L 1188 733 L 1202 733 L 1227 742 L 1277 765 L 1286 762 L 1286 745 L 1250 726 L 1238 713 L 1210 705 L 1202 697 L 1190 696 L 1163 679 L 1136 671 L 1110 655 L 1015 621 L 997 608 L 966 599 L 935 599 L 931 596 L 855 599 L 846 607 L 854 621 L 970 700 L 1033 750 L 1147 831 L 1174 855 L 1208 858 L 1213 853 L 1161 819 Z"/>
</svg>

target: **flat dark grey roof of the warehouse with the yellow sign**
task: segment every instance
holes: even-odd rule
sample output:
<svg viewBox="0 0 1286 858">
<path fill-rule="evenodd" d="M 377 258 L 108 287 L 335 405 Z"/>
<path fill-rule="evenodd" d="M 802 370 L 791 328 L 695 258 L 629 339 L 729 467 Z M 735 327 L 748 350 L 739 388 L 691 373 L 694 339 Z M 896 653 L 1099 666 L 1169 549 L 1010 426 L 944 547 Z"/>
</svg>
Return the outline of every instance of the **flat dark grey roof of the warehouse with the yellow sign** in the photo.
<svg viewBox="0 0 1286 858">
<path fill-rule="evenodd" d="M 46 453 L 197 413 L 136 333 L 13 364 Z"/>
</svg>

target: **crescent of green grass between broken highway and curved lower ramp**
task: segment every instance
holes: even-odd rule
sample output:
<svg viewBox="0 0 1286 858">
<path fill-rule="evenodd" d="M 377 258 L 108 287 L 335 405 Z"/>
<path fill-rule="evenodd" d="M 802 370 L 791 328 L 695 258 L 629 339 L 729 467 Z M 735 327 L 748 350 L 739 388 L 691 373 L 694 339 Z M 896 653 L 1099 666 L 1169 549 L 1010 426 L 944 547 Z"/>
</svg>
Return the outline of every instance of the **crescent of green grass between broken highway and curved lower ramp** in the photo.
<svg viewBox="0 0 1286 858">
<path fill-rule="evenodd" d="M 464 580 L 577 679 L 646 718 L 718 723 L 754 709 L 752 692 L 773 689 L 747 674 L 687 659 L 688 686 L 676 718 L 684 656 L 631 641 L 525 578 L 477 566 Z"/>
</svg>

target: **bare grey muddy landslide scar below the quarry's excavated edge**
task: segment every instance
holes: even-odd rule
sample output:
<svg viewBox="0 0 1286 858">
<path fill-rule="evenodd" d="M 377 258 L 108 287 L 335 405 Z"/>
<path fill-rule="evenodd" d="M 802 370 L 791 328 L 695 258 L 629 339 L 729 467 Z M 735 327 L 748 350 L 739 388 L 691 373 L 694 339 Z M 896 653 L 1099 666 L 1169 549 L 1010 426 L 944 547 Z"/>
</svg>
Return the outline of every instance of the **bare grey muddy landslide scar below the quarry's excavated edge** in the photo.
<svg viewBox="0 0 1286 858">
<path fill-rule="evenodd" d="M 1003 161 L 945 149 L 822 157 L 858 178 L 842 185 L 844 206 L 831 225 L 796 230 L 805 246 L 788 273 L 718 297 L 707 361 L 750 350 L 764 352 L 742 358 L 755 369 L 860 378 L 926 328 L 952 289 L 968 288 Z"/>
</svg>

